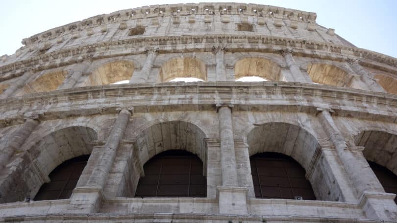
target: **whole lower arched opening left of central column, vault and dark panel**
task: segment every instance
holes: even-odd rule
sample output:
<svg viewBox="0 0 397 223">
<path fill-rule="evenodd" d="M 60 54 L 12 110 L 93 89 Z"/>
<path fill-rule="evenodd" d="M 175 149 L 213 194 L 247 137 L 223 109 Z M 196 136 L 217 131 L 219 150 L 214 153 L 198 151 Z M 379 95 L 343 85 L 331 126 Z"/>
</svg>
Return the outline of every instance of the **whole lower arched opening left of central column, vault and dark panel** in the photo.
<svg viewBox="0 0 397 223">
<path fill-rule="evenodd" d="M 206 146 L 204 144 L 204 138 L 205 134 L 198 126 L 185 121 L 167 121 L 152 125 L 144 129 L 142 133 L 139 134 L 137 137 L 137 149 L 139 149 L 140 151 L 140 163 L 142 165 L 145 163 L 145 165 L 139 167 L 143 169 L 143 173 L 134 173 L 131 176 L 131 178 L 133 179 L 131 181 L 135 183 L 133 188 L 136 188 L 135 191 L 132 192 L 132 194 L 135 194 L 135 197 L 205 197 L 207 189 L 205 189 L 205 194 L 203 195 L 203 190 L 201 188 L 201 186 L 203 186 L 202 177 L 206 175 Z M 194 164 L 194 168 L 192 169 L 193 172 L 189 173 L 195 174 L 195 178 L 192 178 L 191 180 L 201 179 L 201 181 L 197 181 L 197 183 L 195 183 L 196 181 L 191 182 L 192 191 L 189 191 L 189 193 L 185 193 L 188 187 L 185 185 L 185 183 L 182 183 L 182 181 L 173 182 L 175 182 L 175 185 L 178 184 L 176 182 L 180 182 L 180 184 L 185 185 L 183 194 L 167 194 L 159 190 L 157 190 L 157 193 L 155 193 L 156 191 L 152 191 L 151 193 L 149 193 L 148 191 L 145 191 L 145 189 L 142 189 L 142 186 L 137 185 L 138 180 L 141 185 L 153 183 L 153 181 L 150 181 L 151 183 L 148 183 L 148 180 L 150 180 L 151 178 L 156 178 L 155 176 L 152 176 L 153 172 L 151 166 L 157 166 L 157 173 L 163 175 L 163 172 L 158 170 L 159 165 L 168 163 L 167 160 L 173 159 L 182 160 L 180 163 L 177 163 L 175 161 L 175 164 L 177 164 L 176 166 L 178 166 L 175 168 L 173 167 L 173 170 L 175 171 L 187 171 L 190 168 L 190 162 L 192 162 L 192 165 Z M 171 168 L 173 164 L 169 163 L 167 165 L 170 165 Z M 197 170 L 198 165 L 201 165 L 201 171 Z M 165 173 L 170 174 L 170 176 L 168 177 L 173 177 L 174 175 L 177 175 L 177 173 L 172 172 Z M 143 177 L 142 174 L 145 177 Z M 183 174 L 185 174 L 185 172 L 180 173 L 179 175 Z M 199 177 L 198 175 L 201 175 L 202 177 Z M 140 180 L 141 177 L 142 180 Z M 157 176 L 157 179 L 159 178 L 162 177 Z M 175 180 L 176 179 L 177 178 L 175 178 Z M 210 185 L 210 183 L 208 183 L 208 185 Z M 153 185 L 149 187 L 151 188 L 153 187 Z M 147 188 L 147 190 L 149 190 L 149 187 Z M 207 183 L 205 183 L 204 187 L 207 187 Z M 162 188 L 167 188 L 167 185 L 163 185 Z"/>
</svg>

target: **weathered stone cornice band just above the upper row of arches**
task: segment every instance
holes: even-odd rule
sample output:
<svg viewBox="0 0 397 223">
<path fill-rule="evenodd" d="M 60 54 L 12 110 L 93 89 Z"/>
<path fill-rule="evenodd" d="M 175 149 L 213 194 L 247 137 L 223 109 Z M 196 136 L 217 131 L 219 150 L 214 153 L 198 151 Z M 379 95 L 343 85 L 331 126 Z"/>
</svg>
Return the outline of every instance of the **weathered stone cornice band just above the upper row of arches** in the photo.
<svg viewBox="0 0 397 223">
<path fill-rule="evenodd" d="M 201 43 L 198 45 L 197 43 Z M 245 43 L 247 47 L 238 47 Z M 358 59 L 373 66 L 387 65 L 397 68 L 397 59 L 370 50 L 335 45 L 324 42 L 299 40 L 276 36 L 261 35 L 194 35 L 194 36 L 145 36 L 131 39 L 96 43 L 60 49 L 26 60 L 16 61 L 0 67 L 0 81 L 21 76 L 26 71 L 41 71 L 116 56 L 143 54 L 148 48 L 158 48 L 158 53 L 175 52 L 212 52 L 214 46 L 228 45 L 228 52 L 272 52 L 281 53 L 286 48 L 294 55 L 323 58 L 345 62 Z M 233 44 L 235 44 L 233 46 Z M 175 47 L 175 45 L 179 47 Z"/>
</svg>

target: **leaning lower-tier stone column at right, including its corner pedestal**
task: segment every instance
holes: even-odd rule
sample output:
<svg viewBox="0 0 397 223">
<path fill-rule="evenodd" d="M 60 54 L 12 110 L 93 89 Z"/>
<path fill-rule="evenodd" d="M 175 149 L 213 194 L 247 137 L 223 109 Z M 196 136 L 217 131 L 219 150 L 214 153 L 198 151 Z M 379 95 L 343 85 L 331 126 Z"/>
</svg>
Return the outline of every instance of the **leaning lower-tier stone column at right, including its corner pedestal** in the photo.
<svg viewBox="0 0 397 223">
<path fill-rule="evenodd" d="M 362 149 L 348 146 L 330 112 L 323 109 L 318 110 L 323 130 L 335 145 L 336 152 L 357 192 L 360 206 L 367 218 L 397 220 L 397 205 L 393 201 L 395 196 L 384 192 L 382 185 L 363 156 Z"/>
</svg>

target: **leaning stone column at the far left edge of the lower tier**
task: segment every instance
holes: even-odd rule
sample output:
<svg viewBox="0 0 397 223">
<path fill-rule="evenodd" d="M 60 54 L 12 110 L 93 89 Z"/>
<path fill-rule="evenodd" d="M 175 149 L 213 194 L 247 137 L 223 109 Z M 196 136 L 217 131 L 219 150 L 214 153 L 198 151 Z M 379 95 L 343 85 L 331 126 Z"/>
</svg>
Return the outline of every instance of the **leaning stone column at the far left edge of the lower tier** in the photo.
<svg viewBox="0 0 397 223">
<path fill-rule="evenodd" d="M 16 150 L 21 148 L 27 137 L 29 137 L 38 124 L 39 121 L 37 121 L 37 118 L 26 118 L 25 123 L 13 133 L 8 143 L 0 153 L 0 170 L 7 165 L 11 156 Z"/>
</svg>

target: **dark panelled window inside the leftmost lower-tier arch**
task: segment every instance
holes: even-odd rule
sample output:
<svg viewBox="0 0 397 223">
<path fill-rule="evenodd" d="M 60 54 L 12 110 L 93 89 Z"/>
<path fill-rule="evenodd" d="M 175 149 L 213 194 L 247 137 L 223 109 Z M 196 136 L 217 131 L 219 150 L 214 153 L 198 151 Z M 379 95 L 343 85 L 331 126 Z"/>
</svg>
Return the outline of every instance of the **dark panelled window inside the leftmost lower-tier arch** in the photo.
<svg viewBox="0 0 397 223">
<path fill-rule="evenodd" d="M 89 155 L 78 156 L 66 160 L 61 165 L 57 166 L 50 173 L 49 177 L 51 181 L 41 186 L 34 200 L 42 201 L 70 198 L 89 157 Z"/>
</svg>

